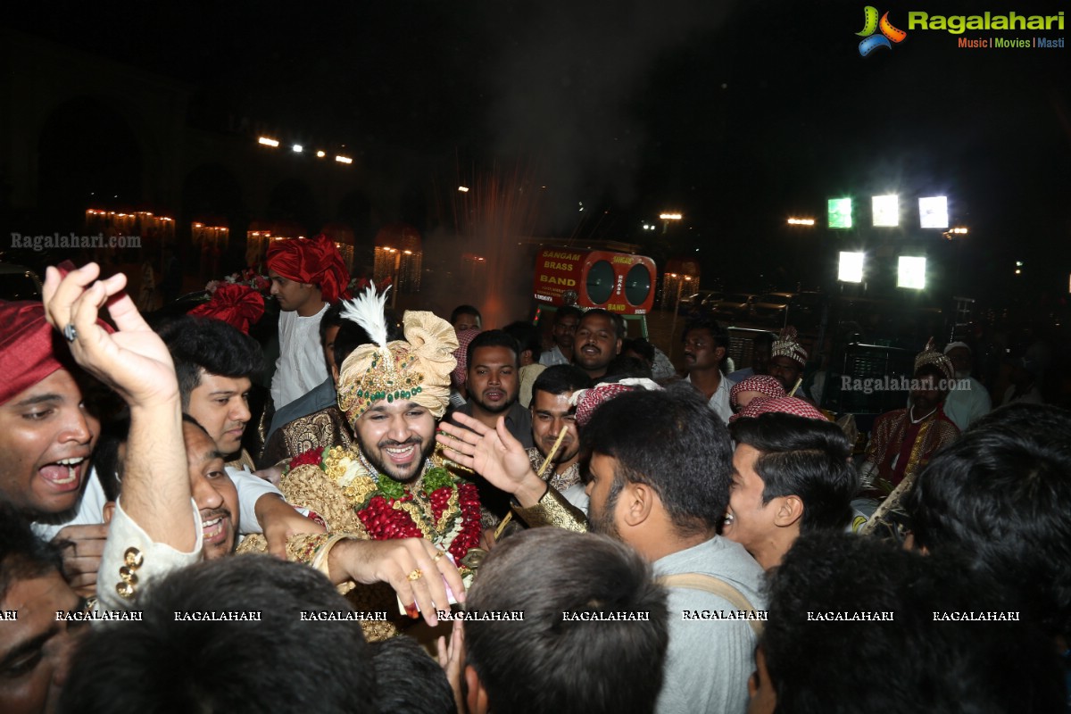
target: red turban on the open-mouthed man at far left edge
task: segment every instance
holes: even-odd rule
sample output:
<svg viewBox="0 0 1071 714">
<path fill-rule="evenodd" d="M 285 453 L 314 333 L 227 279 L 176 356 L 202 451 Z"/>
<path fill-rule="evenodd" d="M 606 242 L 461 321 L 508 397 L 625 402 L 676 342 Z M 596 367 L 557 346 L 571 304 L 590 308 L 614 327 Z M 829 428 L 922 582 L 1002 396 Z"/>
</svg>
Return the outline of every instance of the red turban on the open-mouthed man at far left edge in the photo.
<svg viewBox="0 0 1071 714">
<path fill-rule="evenodd" d="M 111 328 L 104 328 L 111 332 Z M 45 320 L 45 306 L 0 300 L 0 404 L 59 369 L 74 371 L 78 367 L 63 337 Z"/>
</svg>

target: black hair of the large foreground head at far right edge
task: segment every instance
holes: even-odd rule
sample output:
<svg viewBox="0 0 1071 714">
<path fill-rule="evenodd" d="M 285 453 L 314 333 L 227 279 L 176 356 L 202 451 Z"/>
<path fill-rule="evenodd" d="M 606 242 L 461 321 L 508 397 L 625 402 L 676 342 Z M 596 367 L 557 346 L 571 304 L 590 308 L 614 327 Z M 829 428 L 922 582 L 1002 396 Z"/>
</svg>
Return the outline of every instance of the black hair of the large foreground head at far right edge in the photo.
<svg viewBox="0 0 1071 714">
<path fill-rule="evenodd" d="M 1014 606 L 1071 633 L 1071 450 L 990 422 L 939 451 L 905 501 L 915 543 L 1012 589 Z M 1061 444 L 1062 442 L 1062 444 Z"/>
</svg>

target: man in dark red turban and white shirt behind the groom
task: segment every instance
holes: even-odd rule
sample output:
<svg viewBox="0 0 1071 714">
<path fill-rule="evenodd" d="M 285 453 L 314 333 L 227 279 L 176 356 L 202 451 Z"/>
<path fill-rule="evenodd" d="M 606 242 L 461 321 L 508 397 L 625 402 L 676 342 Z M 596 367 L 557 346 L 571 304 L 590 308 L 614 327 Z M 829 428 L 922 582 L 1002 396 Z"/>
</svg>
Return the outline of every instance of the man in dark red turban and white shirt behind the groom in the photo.
<svg viewBox="0 0 1071 714">
<path fill-rule="evenodd" d="M 275 409 L 328 379 L 320 350 L 320 318 L 345 298 L 349 271 L 327 236 L 274 241 L 268 247 L 271 294 L 278 301 L 278 361 L 271 382 Z"/>
</svg>

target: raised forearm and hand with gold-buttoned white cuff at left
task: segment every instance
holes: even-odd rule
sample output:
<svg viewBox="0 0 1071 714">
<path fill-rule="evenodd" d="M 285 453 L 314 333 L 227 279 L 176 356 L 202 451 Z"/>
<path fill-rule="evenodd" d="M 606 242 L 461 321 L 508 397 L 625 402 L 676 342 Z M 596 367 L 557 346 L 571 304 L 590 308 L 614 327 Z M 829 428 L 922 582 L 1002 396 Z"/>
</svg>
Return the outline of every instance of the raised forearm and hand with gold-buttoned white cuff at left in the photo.
<svg viewBox="0 0 1071 714">
<path fill-rule="evenodd" d="M 116 504 L 101 562 L 97 595 L 107 608 L 127 606 L 139 588 L 200 557 L 200 517 L 190 495 L 182 402 L 170 354 L 160 336 L 121 294 L 124 275 L 96 279 L 95 263 L 60 277 L 45 275 L 49 324 L 70 343 L 86 371 L 130 407 L 123 492 Z M 107 305 L 118 328 L 97 323 Z"/>
</svg>

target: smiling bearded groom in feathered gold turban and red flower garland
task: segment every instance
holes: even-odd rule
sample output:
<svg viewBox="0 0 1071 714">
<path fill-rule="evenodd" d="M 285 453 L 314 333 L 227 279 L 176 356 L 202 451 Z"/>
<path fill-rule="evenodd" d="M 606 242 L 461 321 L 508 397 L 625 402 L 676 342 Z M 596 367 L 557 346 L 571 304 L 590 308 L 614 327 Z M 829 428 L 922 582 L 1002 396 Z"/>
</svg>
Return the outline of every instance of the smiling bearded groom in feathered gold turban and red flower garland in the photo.
<svg viewBox="0 0 1071 714">
<path fill-rule="evenodd" d="M 292 505 L 319 514 L 328 532 L 292 535 L 287 556 L 349 588 L 358 610 L 391 613 L 363 623 L 379 640 L 412 624 L 393 614 L 395 594 L 410 618 L 422 612 L 433 626 L 435 610 L 449 609 L 448 588 L 464 599 L 453 562 L 479 543 L 480 501 L 456 465 L 433 453 L 436 421 L 450 399 L 453 328 L 432 313 L 407 312 L 405 339 L 389 340 L 383 295 L 371 288 L 343 316 L 372 338 L 340 367 L 338 408 L 357 449 L 313 450 L 290 461 L 281 490 Z M 262 549 L 263 540 L 251 536 L 239 552 Z M 394 592 L 353 589 L 374 582 Z"/>
</svg>

